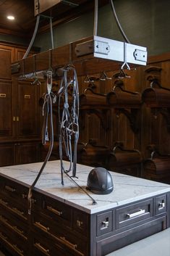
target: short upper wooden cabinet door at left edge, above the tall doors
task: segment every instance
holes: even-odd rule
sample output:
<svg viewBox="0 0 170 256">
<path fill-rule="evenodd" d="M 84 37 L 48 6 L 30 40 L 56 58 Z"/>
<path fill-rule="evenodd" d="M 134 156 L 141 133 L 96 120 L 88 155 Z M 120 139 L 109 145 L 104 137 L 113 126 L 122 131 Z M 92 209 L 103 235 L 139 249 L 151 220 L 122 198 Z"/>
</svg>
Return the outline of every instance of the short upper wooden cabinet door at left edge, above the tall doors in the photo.
<svg viewBox="0 0 170 256">
<path fill-rule="evenodd" d="M 0 45 L 0 79 L 11 79 L 11 63 L 14 60 L 14 48 Z"/>
</svg>

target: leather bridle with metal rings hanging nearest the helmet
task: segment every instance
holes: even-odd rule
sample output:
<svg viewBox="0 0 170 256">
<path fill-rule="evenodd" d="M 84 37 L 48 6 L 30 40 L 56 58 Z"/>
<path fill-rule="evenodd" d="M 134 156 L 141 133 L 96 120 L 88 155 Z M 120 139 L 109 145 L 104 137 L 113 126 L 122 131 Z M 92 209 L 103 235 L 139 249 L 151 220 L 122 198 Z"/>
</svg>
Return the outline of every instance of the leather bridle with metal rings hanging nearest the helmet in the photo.
<svg viewBox="0 0 170 256">
<path fill-rule="evenodd" d="M 72 73 L 72 79 L 69 78 Z M 79 138 L 79 91 L 75 67 L 68 65 L 62 69 L 62 78 L 59 88 L 59 156 L 61 160 L 61 183 L 64 184 L 63 173 L 72 171 L 76 176 L 77 142 Z M 69 74 L 69 75 L 68 75 Z M 69 101 L 70 97 L 70 101 Z M 64 100 L 61 112 L 61 98 Z M 74 140 L 74 150 L 72 141 Z M 69 168 L 66 170 L 63 163 L 63 147 L 69 159 Z"/>
</svg>

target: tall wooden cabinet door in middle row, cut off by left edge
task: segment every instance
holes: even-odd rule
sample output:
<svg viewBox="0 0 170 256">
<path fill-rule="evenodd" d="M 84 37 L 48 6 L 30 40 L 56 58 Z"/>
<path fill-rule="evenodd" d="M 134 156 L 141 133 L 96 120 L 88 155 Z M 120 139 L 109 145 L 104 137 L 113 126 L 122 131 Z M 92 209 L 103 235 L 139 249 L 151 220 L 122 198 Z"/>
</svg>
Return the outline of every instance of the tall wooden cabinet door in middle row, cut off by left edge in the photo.
<svg viewBox="0 0 170 256">
<path fill-rule="evenodd" d="M 14 124 L 10 80 L 0 80 L 0 110 L 0 139 L 10 139 Z"/>
</svg>

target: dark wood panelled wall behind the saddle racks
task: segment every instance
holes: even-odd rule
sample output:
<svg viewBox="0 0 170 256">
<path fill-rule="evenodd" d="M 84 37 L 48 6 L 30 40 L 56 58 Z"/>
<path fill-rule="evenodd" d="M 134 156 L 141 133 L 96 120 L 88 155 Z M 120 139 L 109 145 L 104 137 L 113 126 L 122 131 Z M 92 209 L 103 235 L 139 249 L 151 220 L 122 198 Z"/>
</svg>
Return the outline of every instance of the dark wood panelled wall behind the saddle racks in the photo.
<svg viewBox="0 0 170 256">
<path fill-rule="evenodd" d="M 103 67 L 104 64 L 103 64 Z M 90 73 L 89 77 L 94 78 L 93 91 L 100 94 L 108 94 L 113 90 L 116 80 L 119 80 L 117 73 L 119 70 L 102 70 L 101 72 L 95 73 L 98 68 L 93 67 L 93 73 Z M 111 80 L 100 80 L 103 71 Z M 157 57 L 151 57 L 148 60 L 146 67 L 132 68 L 132 70 L 126 70 L 130 78 L 124 78 L 124 89 L 128 91 L 138 92 L 143 94 L 145 88 L 150 86 L 150 79 L 158 80 L 161 86 L 170 88 L 170 54 L 163 54 Z M 88 75 L 88 74 L 86 74 Z M 78 76 L 80 95 L 85 92 L 85 89 L 90 86 L 85 83 L 86 75 Z M 59 80 L 56 81 L 59 84 Z M 163 181 L 169 183 L 169 173 L 163 174 L 163 176 L 157 175 L 157 170 L 152 170 L 154 175 L 148 175 L 148 171 L 145 172 L 143 164 L 145 160 L 150 159 L 151 153 L 155 150 L 163 155 L 170 154 L 170 129 L 169 129 L 169 108 L 163 108 L 167 112 L 166 118 L 160 114 L 156 109 L 150 109 L 145 102 L 142 102 L 140 108 L 135 110 L 135 125 L 137 131 L 132 130 L 129 119 L 126 115 L 117 112 L 115 107 L 105 108 L 100 106 L 99 113 L 101 118 L 96 115 L 96 112 L 90 112 L 90 107 L 86 107 L 85 110 L 81 110 L 80 107 L 80 151 L 78 152 L 78 161 L 90 166 L 103 166 L 110 170 L 120 171 L 133 176 L 142 176 L 144 178 L 152 178 L 157 181 Z M 98 110 L 96 107 L 95 110 Z M 127 108 L 130 112 L 131 110 Z M 82 112 L 85 112 L 82 115 Z M 57 114 L 55 114 L 56 123 L 56 141 L 58 137 L 57 132 Z M 133 117 L 134 117 L 133 116 Z M 91 142 L 92 141 L 92 142 Z M 133 164 L 127 159 L 125 165 L 122 168 L 117 168 L 118 165 L 108 165 L 108 157 L 113 152 L 114 146 L 119 143 L 122 147 L 127 150 L 136 150 L 140 152 L 141 162 L 140 164 Z M 95 162 L 90 160 L 90 157 L 82 157 L 82 148 L 88 148 L 87 144 L 93 146 L 95 152 Z M 85 146 L 86 145 L 86 146 Z M 100 154 L 95 146 L 106 147 L 109 151 L 106 154 Z M 58 148 L 55 147 L 56 155 Z M 91 154 L 91 153 L 89 153 Z M 97 157 L 98 156 L 98 157 Z M 55 159 L 54 157 L 54 159 Z M 93 157 L 93 156 L 92 156 Z M 169 157 L 169 156 L 168 156 Z M 119 158 L 120 160 L 120 158 Z M 129 163 L 128 163 L 129 160 Z M 124 160 L 122 160 L 124 161 Z M 156 168 L 155 168 L 156 169 Z M 166 168 L 167 169 L 167 168 Z"/>
</svg>

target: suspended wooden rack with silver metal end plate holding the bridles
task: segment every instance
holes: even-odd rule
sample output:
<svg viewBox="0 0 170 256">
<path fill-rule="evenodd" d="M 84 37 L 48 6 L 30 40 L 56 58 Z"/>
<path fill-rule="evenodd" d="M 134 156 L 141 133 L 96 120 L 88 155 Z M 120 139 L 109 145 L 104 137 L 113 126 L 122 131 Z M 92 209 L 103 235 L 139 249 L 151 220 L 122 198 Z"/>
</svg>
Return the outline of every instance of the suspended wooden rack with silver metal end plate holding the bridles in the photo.
<svg viewBox="0 0 170 256">
<path fill-rule="evenodd" d="M 73 0 L 72 0 L 73 1 Z M 57 1 L 56 1 L 57 2 Z M 59 3 L 61 1 L 58 1 Z M 113 3 L 111 1 L 111 3 Z M 100 70 L 116 70 L 119 67 L 129 67 L 128 64 L 146 65 L 147 49 L 143 46 L 115 41 L 97 36 L 98 29 L 98 0 L 95 0 L 94 33 L 90 38 L 84 38 L 74 43 L 49 49 L 27 57 L 12 64 L 12 74 L 27 75 L 33 72 L 48 70 L 48 57 L 51 55 L 53 70 L 72 64 L 77 69 L 77 75 L 92 74 Z M 49 53 L 49 51 L 51 51 Z M 35 65 L 33 65 L 35 61 Z M 33 67 L 36 70 L 33 70 Z"/>
</svg>

